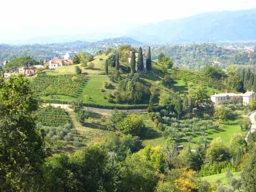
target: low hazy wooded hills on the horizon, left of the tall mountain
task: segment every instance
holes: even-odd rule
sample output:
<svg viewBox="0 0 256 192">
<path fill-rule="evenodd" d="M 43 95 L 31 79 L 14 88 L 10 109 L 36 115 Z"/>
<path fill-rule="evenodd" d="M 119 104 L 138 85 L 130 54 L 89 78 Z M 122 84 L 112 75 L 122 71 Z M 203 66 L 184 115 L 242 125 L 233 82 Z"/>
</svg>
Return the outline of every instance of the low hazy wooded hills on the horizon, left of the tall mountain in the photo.
<svg viewBox="0 0 256 192">
<path fill-rule="evenodd" d="M 98 50 L 106 50 L 107 47 L 117 48 L 123 44 L 135 47 L 144 45 L 143 43 L 130 37 L 110 38 L 93 43 L 86 41 L 75 41 L 68 43 L 31 45 L 0 44 L 0 61 L 11 60 L 14 57 L 21 57 L 25 55 L 29 55 L 37 60 L 49 60 L 53 57 L 62 57 L 66 52 L 70 52 L 71 57 L 80 51 L 85 51 L 87 54 L 95 54 Z"/>
</svg>

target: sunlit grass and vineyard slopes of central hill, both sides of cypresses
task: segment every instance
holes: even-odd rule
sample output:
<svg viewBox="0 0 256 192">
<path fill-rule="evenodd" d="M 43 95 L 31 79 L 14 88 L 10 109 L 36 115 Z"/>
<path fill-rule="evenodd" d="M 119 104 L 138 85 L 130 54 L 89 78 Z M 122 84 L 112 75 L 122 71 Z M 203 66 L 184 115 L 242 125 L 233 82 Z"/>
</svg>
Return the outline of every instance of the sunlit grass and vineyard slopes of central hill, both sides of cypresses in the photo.
<svg viewBox="0 0 256 192">
<path fill-rule="evenodd" d="M 83 103 L 87 103 L 94 106 L 112 106 L 122 107 L 129 106 L 127 104 L 118 104 L 109 102 L 108 97 L 110 94 L 114 94 L 118 82 L 110 81 L 111 75 L 100 75 L 105 73 L 105 61 L 107 56 L 105 54 L 98 55 L 94 58 L 94 68 L 87 69 L 81 67 L 81 64 L 62 66 L 56 69 L 45 70 L 41 75 L 31 79 L 33 82 L 33 89 L 40 96 L 44 102 L 50 103 L 67 103 L 76 99 L 81 99 Z M 124 64 L 122 64 L 124 65 Z M 74 78 L 76 76 L 75 68 L 79 66 L 82 69 L 82 74 L 78 81 Z M 114 69 L 109 68 L 111 72 Z M 164 78 L 166 75 L 171 75 L 173 83 L 171 86 L 164 84 Z M 202 84 L 211 95 L 215 92 L 221 92 L 226 89 L 226 86 L 220 80 L 206 78 L 197 71 L 188 71 L 178 68 L 169 69 L 164 73 L 162 66 L 153 62 L 153 70 L 150 73 L 139 74 L 141 81 L 144 82 L 147 87 L 152 85 L 156 86 L 159 90 L 169 92 L 172 95 L 176 95 L 175 92 L 180 94 L 186 94 L 188 92 L 188 86 L 196 86 Z M 67 78 L 66 78 L 67 77 Z M 122 74 L 122 79 L 127 78 L 127 74 Z M 53 82 L 53 83 L 52 83 Z M 107 83 L 108 87 L 103 87 L 103 84 Z M 70 87 L 70 88 L 69 88 Z M 139 105 L 148 104 L 148 101 L 138 103 Z M 138 105 L 137 104 L 137 105 Z M 130 105 L 132 107 L 132 105 Z M 141 106 L 146 108 L 147 106 Z"/>
</svg>

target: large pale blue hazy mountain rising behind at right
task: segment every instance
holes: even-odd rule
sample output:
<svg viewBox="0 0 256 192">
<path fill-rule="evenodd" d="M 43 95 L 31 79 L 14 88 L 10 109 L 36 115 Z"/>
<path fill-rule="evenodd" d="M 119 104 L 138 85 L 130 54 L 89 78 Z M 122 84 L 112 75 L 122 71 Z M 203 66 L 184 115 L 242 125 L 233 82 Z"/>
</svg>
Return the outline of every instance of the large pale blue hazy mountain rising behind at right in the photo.
<svg viewBox="0 0 256 192">
<path fill-rule="evenodd" d="M 256 9 L 203 13 L 152 23 L 127 36 L 150 44 L 256 41 Z"/>
</svg>

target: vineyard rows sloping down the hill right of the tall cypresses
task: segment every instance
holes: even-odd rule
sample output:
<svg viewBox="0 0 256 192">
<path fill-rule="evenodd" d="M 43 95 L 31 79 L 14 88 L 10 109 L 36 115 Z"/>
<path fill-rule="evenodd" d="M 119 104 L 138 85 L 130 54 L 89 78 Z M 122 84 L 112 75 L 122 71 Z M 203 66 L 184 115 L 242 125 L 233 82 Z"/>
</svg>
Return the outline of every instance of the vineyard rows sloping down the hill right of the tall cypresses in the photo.
<svg viewBox="0 0 256 192">
<path fill-rule="evenodd" d="M 206 77 L 199 71 L 185 70 L 180 68 L 175 68 L 172 71 L 173 78 L 183 79 L 183 81 L 194 84 L 202 84 L 204 86 L 213 87 L 219 90 L 227 90 L 227 85 L 221 79 L 213 79 Z"/>
</svg>

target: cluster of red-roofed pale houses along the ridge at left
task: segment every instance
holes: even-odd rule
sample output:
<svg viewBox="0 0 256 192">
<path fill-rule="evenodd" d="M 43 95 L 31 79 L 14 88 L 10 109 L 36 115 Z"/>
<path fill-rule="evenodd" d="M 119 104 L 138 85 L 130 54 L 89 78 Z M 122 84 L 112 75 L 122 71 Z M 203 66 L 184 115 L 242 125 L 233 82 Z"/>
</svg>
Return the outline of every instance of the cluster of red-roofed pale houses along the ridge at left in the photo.
<svg viewBox="0 0 256 192">
<path fill-rule="evenodd" d="M 8 61 L 4 62 L 4 65 L 7 63 Z M 4 79 L 8 79 L 11 75 L 17 75 L 17 74 L 22 74 L 25 77 L 29 77 L 29 76 L 33 76 L 36 74 L 36 70 L 38 68 L 42 68 L 42 69 L 55 69 L 57 67 L 63 66 L 63 65 L 71 65 L 73 64 L 73 60 L 70 59 L 70 55 L 69 53 L 66 53 L 65 56 L 63 57 L 63 59 L 59 59 L 59 58 L 54 58 L 50 61 L 46 61 L 44 63 L 44 66 L 42 65 L 35 65 L 35 66 L 30 66 L 30 67 L 22 67 L 19 68 L 18 73 L 4 73 Z"/>
</svg>

